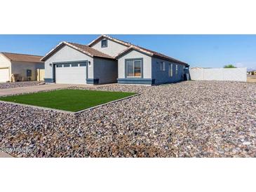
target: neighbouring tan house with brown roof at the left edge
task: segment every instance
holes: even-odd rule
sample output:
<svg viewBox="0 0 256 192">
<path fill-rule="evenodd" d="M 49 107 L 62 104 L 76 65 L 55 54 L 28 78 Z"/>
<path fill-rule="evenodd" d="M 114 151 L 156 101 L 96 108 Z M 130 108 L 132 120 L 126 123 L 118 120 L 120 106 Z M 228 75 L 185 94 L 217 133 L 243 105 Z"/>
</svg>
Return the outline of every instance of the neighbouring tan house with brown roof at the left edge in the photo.
<svg viewBox="0 0 256 192">
<path fill-rule="evenodd" d="M 0 82 L 36 81 L 37 69 L 44 69 L 42 56 L 0 53 Z M 13 77 L 13 78 L 12 78 Z"/>
</svg>

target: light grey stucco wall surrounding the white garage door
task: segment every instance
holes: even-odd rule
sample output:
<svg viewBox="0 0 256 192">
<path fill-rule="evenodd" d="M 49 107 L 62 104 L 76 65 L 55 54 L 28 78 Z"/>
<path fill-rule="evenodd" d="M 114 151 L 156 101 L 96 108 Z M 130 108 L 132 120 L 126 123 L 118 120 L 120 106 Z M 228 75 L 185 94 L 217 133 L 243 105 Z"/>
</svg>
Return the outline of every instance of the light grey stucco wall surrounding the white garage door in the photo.
<svg viewBox="0 0 256 192">
<path fill-rule="evenodd" d="M 57 53 L 48 58 L 45 62 L 45 78 L 53 78 L 53 62 L 74 62 L 74 61 L 90 61 L 90 67 L 88 67 L 88 77 L 93 78 L 93 57 L 85 55 L 74 48 L 64 46 Z"/>
</svg>

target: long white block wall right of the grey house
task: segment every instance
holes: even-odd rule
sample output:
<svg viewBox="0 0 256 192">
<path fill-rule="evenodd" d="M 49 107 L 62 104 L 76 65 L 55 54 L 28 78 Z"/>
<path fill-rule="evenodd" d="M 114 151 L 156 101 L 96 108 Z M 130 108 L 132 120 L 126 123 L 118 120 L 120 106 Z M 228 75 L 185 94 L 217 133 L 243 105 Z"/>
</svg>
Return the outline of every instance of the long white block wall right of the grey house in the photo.
<svg viewBox="0 0 256 192">
<path fill-rule="evenodd" d="M 247 68 L 189 69 L 191 80 L 247 81 Z"/>
</svg>

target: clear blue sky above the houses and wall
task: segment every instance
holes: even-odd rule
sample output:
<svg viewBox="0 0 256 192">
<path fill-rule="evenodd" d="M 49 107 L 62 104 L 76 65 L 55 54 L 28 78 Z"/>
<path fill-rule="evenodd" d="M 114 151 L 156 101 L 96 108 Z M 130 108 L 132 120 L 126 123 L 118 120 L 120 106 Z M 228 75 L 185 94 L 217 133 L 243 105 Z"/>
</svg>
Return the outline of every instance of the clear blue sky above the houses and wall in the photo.
<svg viewBox="0 0 256 192">
<path fill-rule="evenodd" d="M 124 35 L 109 34 L 177 60 L 191 67 L 236 67 L 256 69 L 256 35 Z M 0 52 L 46 55 L 60 41 L 88 44 L 97 34 L 0 35 Z"/>
</svg>

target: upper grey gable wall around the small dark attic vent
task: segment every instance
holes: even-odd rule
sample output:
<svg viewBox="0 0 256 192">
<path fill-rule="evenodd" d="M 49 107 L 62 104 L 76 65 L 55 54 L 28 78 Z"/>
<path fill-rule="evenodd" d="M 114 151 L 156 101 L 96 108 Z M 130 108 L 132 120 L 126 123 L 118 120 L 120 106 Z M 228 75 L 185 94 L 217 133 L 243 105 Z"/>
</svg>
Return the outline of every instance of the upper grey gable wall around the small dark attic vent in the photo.
<svg viewBox="0 0 256 192">
<path fill-rule="evenodd" d="M 121 45 L 120 43 L 116 43 L 114 41 L 107 39 L 106 48 L 101 47 L 101 41 L 95 43 L 95 45 L 93 45 L 92 48 L 95 48 L 96 50 L 100 50 L 102 53 L 106 53 L 107 55 L 115 57 L 116 55 L 121 53 L 123 50 L 125 50 L 127 47 Z"/>
</svg>

